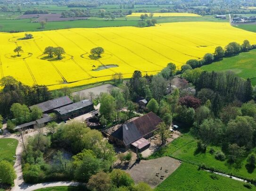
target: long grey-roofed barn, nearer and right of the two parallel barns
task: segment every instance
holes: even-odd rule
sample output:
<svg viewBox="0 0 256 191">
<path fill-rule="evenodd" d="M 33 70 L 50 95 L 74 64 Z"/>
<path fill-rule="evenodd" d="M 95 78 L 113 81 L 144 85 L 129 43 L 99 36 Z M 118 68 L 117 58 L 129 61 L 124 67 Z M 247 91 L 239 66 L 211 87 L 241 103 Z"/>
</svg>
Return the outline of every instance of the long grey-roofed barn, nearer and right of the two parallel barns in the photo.
<svg viewBox="0 0 256 191">
<path fill-rule="evenodd" d="M 58 109 L 54 109 L 54 113 L 57 114 L 60 120 L 67 120 L 79 115 L 86 114 L 94 109 L 93 103 L 89 99 L 69 104 Z"/>
</svg>

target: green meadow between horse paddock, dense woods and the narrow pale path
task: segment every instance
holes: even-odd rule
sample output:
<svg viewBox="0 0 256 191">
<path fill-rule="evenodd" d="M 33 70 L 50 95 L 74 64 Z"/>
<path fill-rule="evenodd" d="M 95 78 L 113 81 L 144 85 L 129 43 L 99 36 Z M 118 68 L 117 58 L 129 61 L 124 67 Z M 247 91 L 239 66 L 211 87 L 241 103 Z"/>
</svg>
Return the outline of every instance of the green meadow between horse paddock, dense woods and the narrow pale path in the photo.
<svg viewBox="0 0 256 191">
<path fill-rule="evenodd" d="M 175 139 L 171 144 L 151 155 L 149 159 L 170 156 L 191 164 L 198 165 L 204 163 L 207 167 L 215 168 L 217 171 L 232 174 L 234 176 L 242 176 L 250 179 L 256 177 L 256 169 L 249 172 L 245 167 L 247 163 L 246 159 L 243 159 L 240 168 L 235 168 L 234 165 L 230 165 L 227 160 L 216 160 L 215 154 L 209 153 L 211 147 L 214 148 L 215 152 L 221 150 L 220 147 L 207 146 L 206 153 L 196 153 L 197 140 L 190 134 L 184 134 L 182 137 Z M 253 152 L 255 153 L 255 151 Z"/>
</svg>

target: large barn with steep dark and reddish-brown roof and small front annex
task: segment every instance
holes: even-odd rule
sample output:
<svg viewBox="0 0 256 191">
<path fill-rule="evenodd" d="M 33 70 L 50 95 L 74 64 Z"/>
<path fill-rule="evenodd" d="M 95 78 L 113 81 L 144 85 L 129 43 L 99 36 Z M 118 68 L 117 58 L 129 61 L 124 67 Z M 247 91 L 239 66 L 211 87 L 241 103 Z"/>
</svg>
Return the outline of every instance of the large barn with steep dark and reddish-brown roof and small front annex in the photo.
<svg viewBox="0 0 256 191">
<path fill-rule="evenodd" d="M 150 145 L 145 139 L 152 137 L 153 132 L 157 130 L 157 125 L 160 122 L 162 120 L 156 114 L 150 112 L 132 122 L 122 125 L 109 136 L 109 140 L 125 148 L 131 145 L 135 147 L 139 145 L 139 150 L 142 151 Z"/>
</svg>

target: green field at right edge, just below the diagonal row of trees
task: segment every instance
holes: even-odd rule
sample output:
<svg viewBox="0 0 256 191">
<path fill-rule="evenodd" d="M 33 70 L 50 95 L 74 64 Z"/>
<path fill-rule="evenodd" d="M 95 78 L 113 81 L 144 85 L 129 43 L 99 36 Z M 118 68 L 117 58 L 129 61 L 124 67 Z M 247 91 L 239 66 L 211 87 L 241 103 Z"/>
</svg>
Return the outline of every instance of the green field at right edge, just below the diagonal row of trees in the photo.
<svg viewBox="0 0 256 191">
<path fill-rule="evenodd" d="M 238 76 L 247 79 L 256 77 L 256 49 L 239 55 L 224 58 L 212 64 L 202 66 L 201 69 L 206 71 L 228 71 L 231 70 Z M 252 84 L 256 85 L 256 78 L 252 79 Z"/>
</svg>

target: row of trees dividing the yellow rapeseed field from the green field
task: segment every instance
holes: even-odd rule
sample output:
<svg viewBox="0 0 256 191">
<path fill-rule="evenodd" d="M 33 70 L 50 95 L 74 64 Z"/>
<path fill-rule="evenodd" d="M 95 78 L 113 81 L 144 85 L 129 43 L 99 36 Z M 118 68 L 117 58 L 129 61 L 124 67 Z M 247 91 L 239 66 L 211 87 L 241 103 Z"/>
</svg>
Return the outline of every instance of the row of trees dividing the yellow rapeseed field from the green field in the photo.
<svg viewBox="0 0 256 191">
<path fill-rule="evenodd" d="M 217 46 L 213 54 L 206 53 L 202 60 L 189 60 L 186 62 L 186 64 L 189 65 L 192 69 L 194 69 L 206 64 L 211 64 L 214 61 L 223 59 L 223 57 L 233 56 L 241 52 L 247 52 L 248 50 L 254 48 L 256 48 L 256 45 L 250 45 L 250 42 L 248 40 L 244 40 L 242 45 L 239 45 L 236 42 L 231 42 L 225 47 L 225 49 L 223 49 L 223 47 L 221 46 Z"/>
</svg>

